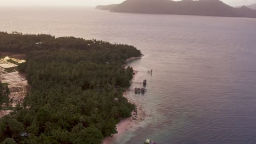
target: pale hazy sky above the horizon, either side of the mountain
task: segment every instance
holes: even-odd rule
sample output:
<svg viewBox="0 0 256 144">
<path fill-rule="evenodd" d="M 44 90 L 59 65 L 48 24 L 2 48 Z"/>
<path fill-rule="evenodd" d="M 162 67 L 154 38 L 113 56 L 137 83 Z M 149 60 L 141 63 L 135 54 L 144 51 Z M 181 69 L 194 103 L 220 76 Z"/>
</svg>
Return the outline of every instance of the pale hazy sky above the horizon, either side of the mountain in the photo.
<svg viewBox="0 0 256 144">
<path fill-rule="evenodd" d="M 95 6 L 97 4 L 121 3 L 124 0 L 0 0 L 0 7 L 17 6 Z M 156 0 L 157 1 L 157 0 Z M 176 0 L 177 1 L 177 0 Z M 223 2 L 232 5 L 248 5 L 256 3 L 256 0 L 223 0 Z"/>
</svg>

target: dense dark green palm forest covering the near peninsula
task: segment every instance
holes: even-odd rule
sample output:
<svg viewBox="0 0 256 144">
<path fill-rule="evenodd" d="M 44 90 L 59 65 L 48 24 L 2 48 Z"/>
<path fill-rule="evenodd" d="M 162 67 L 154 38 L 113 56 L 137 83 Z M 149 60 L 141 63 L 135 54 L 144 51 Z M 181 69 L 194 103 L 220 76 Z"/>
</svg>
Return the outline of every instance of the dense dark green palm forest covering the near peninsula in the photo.
<svg viewBox="0 0 256 144">
<path fill-rule="evenodd" d="M 0 119 L 3 143 L 102 143 L 135 108 L 123 97 L 133 74 L 125 59 L 141 56 L 133 46 L 2 32 L 0 51 L 26 54 L 18 69 L 31 86 Z"/>
</svg>

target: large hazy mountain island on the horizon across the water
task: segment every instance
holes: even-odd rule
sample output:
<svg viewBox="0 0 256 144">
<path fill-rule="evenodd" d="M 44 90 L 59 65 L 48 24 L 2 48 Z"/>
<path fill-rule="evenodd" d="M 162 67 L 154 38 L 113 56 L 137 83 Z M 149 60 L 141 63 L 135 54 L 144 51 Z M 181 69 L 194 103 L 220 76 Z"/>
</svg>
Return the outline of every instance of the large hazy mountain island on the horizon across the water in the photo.
<svg viewBox="0 0 256 144">
<path fill-rule="evenodd" d="M 111 11 L 120 13 L 176 14 L 256 18 L 256 10 L 245 6 L 231 7 L 219 0 L 127 0 Z"/>
</svg>

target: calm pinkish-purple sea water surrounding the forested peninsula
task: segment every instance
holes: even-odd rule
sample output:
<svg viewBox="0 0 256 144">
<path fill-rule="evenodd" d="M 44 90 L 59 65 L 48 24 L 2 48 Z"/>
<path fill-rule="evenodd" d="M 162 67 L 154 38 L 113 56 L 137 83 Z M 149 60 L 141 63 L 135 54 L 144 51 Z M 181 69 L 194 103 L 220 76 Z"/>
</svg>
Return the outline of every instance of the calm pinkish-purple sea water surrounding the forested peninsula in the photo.
<svg viewBox="0 0 256 144">
<path fill-rule="evenodd" d="M 109 13 L 92 8 L 1 8 L 0 31 L 71 35 L 136 46 L 130 97 L 145 121 L 114 144 L 256 143 L 256 19 Z M 137 87 L 132 85 L 132 87 Z"/>
</svg>

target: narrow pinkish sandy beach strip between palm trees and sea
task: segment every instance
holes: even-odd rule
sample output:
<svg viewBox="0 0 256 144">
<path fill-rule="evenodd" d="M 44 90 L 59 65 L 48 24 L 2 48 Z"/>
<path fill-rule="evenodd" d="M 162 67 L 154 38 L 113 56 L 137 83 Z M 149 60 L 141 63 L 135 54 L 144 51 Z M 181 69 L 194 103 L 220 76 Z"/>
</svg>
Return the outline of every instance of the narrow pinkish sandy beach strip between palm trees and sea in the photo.
<svg viewBox="0 0 256 144">
<path fill-rule="evenodd" d="M 143 57 L 143 56 L 144 55 L 142 55 L 141 57 Z M 134 61 L 136 59 L 141 59 L 141 57 L 131 57 L 131 58 L 126 59 L 125 62 L 127 63 L 127 62 Z M 131 82 L 135 79 L 135 76 L 138 73 L 138 71 L 133 70 L 133 73 L 135 75 L 133 75 Z M 129 94 L 127 94 L 127 92 L 124 92 L 123 97 L 125 97 L 129 101 L 129 103 L 135 105 L 135 110 L 133 110 L 131 112 L 131 117 L 122 119 L 116 125 L 118 133 L 113 135 L 112 137 L 106 137 L 103 140 L 103 144 L 111 144 L 114 141 L 115 137 L 118 137 L 119 135 L 123 134 L 124 131 L 128 130 L 129 128 L 131 128 L 132 125 L 134 125 L 134 124 L 136 124 L 138 122 L 144 121 L 144 117 L 146 117 L 146 113 L 142 110 L 142 107 L 135 100 L 132 100 L 130 98 Z"/>
</svg>

